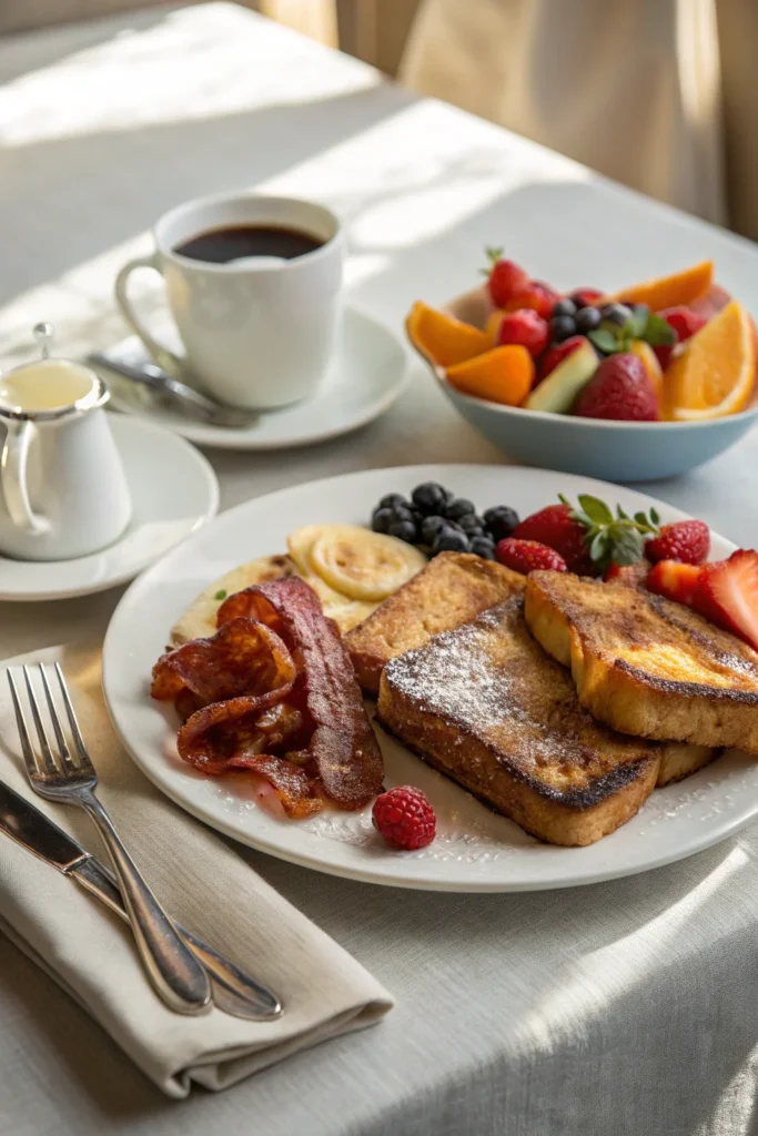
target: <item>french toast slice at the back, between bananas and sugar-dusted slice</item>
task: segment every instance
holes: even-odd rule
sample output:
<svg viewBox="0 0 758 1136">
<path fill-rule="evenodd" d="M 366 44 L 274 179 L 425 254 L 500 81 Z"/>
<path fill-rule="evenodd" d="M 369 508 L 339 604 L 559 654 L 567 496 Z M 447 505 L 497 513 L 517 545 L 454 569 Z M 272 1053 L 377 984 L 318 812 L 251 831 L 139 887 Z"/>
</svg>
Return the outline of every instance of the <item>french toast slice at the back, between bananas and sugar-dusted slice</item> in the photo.
<svg viewBox="0 0 758 1136">
<path fill-rule="evenodd" d="M 468 552 L 440 553 L 345 635 L 358 682 L 376 694 L 390 659 L 467 623 L 523 585 L 519 573 L 494 560 Z"/>
</svg>

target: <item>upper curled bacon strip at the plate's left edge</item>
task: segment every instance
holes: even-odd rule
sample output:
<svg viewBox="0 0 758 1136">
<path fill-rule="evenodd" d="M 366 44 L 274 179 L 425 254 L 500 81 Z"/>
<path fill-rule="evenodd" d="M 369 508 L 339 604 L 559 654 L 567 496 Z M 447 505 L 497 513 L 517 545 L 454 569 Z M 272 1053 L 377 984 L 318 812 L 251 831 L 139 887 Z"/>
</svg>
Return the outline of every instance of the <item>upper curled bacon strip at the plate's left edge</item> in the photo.
<svg viewBox="0 0 758 1136">
<path fill-rule="evenodd" d="M 295 667 L 282 640 L 253 619 L 233 619 L 211 638 L 192 640 L 152 668 L 153 699 L 193 712 L 222 699 L 292 690 Z"/>
</svg>

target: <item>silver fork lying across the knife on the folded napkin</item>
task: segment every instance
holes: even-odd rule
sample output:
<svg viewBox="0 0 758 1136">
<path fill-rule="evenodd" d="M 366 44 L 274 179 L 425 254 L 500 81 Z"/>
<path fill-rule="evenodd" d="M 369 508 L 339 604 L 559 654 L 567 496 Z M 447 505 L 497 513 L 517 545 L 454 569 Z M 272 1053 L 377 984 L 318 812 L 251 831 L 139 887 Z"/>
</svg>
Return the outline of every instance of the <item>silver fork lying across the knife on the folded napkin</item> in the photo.
<svg viewBox="0 0 758 1136">
<path fill-rule="evenodd" d="M 63 801 L 66 804 L 78 805 L 94 821 L 110 853 L 124 903 L 130 914 L 138 950 L 155 989 L 164 1002 L 178 1013 L 205 1012 L 210 1009 L 210 980 L 206 970 L 180 938 L 170 919 L 158 903 L 140 875 L 136 864 L 124 847 L 110 817 L 94 795 L 98 775 L 84 744 L 84 738 L 82 737 L 60 667 L 56 663 L 55 670 L 66 708 L 78 765 L 74 761 L 68 749 L 44 667 L 40 665 L 40 675 L 50 711 L 50 720 L 58 743 L 57 760 L 48 741 L 28 667 L 24 667 L 23 669 L 32 718 L 34 719 L 34 726 L 40 740 L 41 752 L 39 760 L 35 758 L 34 746 L 26 729 L 14 677 L 10 670 L 7 674 L 14 701 L 14 710 L 16 711 L 22 751 L 24 761 L 26 762 L 26 772 L 32 788 L 40 796 L 44 796 L 50 801 Z"/>
</svg>

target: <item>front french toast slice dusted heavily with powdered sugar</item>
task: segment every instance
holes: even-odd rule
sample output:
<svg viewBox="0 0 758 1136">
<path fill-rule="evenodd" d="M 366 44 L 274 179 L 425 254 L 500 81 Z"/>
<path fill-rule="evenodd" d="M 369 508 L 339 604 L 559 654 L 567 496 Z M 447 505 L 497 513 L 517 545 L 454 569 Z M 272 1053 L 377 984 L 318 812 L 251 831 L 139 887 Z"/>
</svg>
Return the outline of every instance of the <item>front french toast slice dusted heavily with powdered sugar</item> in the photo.
<svg viewBox="0 0 758 1136">
<path fill-rule="evenodd" d="M 652 792 L 655 743 L 584 710 L 568 671 L 530 635 L 522 587 L 388 662 L 380 722 L 424 761 L 551 844 L 613 833 Z"/>
</svg>

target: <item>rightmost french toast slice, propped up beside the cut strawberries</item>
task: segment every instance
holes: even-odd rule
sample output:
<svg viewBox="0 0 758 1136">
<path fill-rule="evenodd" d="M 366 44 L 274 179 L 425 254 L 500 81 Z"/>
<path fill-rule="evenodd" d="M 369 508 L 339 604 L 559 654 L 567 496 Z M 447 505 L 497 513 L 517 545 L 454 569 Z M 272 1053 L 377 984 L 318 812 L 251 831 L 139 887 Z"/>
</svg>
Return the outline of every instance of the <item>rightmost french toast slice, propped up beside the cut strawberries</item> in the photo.
<svg viewBox="0 0 758 1136">
<path fill-rule="evenodd" d="M 636 737 L 758 754 L 758 654 L 697 612 L 649 592 L 535 571 L 525 615 L 600 721 Z"/>
</svg>

